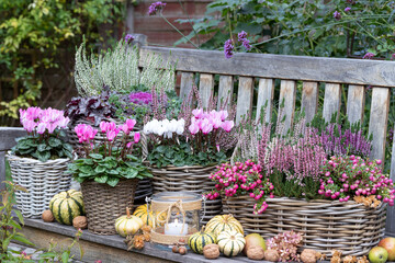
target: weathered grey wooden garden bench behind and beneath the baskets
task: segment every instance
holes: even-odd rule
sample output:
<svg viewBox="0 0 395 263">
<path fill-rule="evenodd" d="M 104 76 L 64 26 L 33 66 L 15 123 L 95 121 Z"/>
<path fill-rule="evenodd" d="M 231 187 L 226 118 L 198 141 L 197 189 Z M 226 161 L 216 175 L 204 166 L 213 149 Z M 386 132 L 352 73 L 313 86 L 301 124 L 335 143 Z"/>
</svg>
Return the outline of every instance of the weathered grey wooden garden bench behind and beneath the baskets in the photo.
<svg viewBox="0 0 395 263">
<path fill-rule="evenodd" d="M 176 70 L 181 75 L 180 96 L 189 94 L 194 83 L 198 84 L 202 101 L 207 105 L 208 99 L 215 90 L 219 99 L 233 94 L 237 85 L 237 122 L 241 116 L 251 113 L 252 108 L 267 105 L 268 119 L 274 108 L 275 101 L 284 100 L 285 126 L 291 127 L 295 114 L 296 98 L 301 98 L 302 107 L 306 119 L 311 121 L 318 110 L 323 111 L 324 118 L 329 121 L 334 113 L 341 107 L 345 87 L 347 94 L 347 117 L 351 123 L 362 121 L 364 117 L 365 88 L 372 89 L 369 133 L 373 136 L 371 158 L 384 159 L 386 147 L 386 130 L 388 123 L 391 89 L 395 88 L 395 62 L 382 60 L 359 60 L 343 58 L 283 56 L 269 54 L 235 54 L 230 59 L 225 59 L 223 52 L 195 50 L 184 48 L 162 48 L 145 46 L 145 36 L 137 37 L 140 48 L 140 66 L 144 67 L 148 55 L 161 55 L 163 66 L 167 61 L 176 65 Z M 216 85 L 217 81 L 217 85 Z M 280 95 L 275 98 L 276 84 Z M 298 89 L 301 87 L 301 89 Z M 324 102 L 319 103 L 319 93 L 324 93 Z M 346 94 L 345 94 L 346 95 Z M 267 104 L 266 104 L 267 103 Z M 323 108 L 318 108 L 323 105 Z M 259 112 L 259 111 L 258 111 Z M 258 117 L 258 116 L 257 116 Z M 16 132 L 16 133 L 15 133 Z M 23 132 L 15 128 L 0 128 L 0 180 L 4 179 L 4 151 L 14 145 L 14 138 Z M 395 149 L 395 144 L 391 151 Z M 395 180 L 395 156 L 391 160 L 391 176 Z M 57 225 L 26 220 L 31 235 L 43 231 L 70 236 Z M 388 209 L 387 235 L 395 236 L 395 210 Z M 82 237 L 83 239 L 83 237 Z M 97 240 L 88 236 L 88 241 L 120 248 L 112 238 L 100 237 Z M 106 240 L 106 241 L 105 241 Z M 94 245 L 93 245 L 94 247 Z M 101 248 L 101 247 L 100 247 Z M 149 255 L 148 252 L 144 254 Z M 153 250 L 154 251 L 154 250 Z M 154 253 L 154 252 L 153 252 Z M 166 253 L 150 254 L 167 258 Z M 184 258 L 187 259 L 187 258 Z M 189 262 L 203 262 L 188 258 Z M 181 262 L 181 258 L 179 259 Z M 103 261 L 104 262 L 104 261 Z"/>
</svg>

